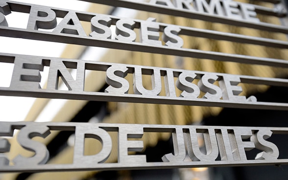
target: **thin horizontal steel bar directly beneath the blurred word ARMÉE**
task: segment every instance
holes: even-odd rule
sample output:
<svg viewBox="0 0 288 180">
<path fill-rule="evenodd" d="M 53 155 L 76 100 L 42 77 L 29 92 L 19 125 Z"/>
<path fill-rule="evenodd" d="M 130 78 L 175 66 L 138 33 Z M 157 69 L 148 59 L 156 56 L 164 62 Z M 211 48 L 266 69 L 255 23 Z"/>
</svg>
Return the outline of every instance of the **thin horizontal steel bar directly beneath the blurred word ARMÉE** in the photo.
<svg viewBox="0 0 288 180">
<path fill-rule="evenodd" d="M 185 9 L 180 10 L 180 9 L 171 8 L 165 5 L 149 4 L 147 2 L 140 2 L 140 1 L 135 1 L 135 0 L 82 0 L 82 1 L 106 4 L 106 5 L 116 6 L 116 7 L 126 7 L 126 8 L 138 9 L 138 10 L 149 11 L 149 12 L 154 12 L 154 13 L 168 14 L 168 15 L 203 20 L 203 21 L 208 21 L 208 22 L 219 22 L 219 23 L 224 23 L 224 24 L 229 24 L 229 25 L 249 27 L 249 28 L 255 28 L 259 30 L 281 32 L 281 33 L 288 34 L 288 28 L 285 26 L 264 23 L 264 22 L 255 23 L 255 22 L 248 22 L 244 20 L 235 20 L 235 19 L 231 19 L 228 17 L 210 15 L 207 13 L 199 13 L 196 11 L 189 11 Z M 262 9 L 258 8 L 258 10 L 262 10 L 263 12 L 264 8 Z"/>
</svg>

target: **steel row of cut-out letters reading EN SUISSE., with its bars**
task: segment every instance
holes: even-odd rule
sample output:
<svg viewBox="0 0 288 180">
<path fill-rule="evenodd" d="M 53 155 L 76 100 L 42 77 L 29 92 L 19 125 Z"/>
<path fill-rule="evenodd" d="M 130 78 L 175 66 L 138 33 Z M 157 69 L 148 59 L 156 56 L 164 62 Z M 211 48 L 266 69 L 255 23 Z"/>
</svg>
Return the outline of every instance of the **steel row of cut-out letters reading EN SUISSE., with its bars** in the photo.
<svg viewBox="0 0 288 180">
<path fill-rule="evenodd" d="M 288 110 L 288 103 L 258 102 L 254 96 L 246 97 L 239 86 L 249 83 L 288 87 L 288 79 L 5 53 L 0 53 L 0 62 L 14 63 L 10 87 L 1 87 L 0 95 Z M 49 67 L 47 88 L 39 85 L 44 66 Z M 71 68 L 76 70 L 75 79 Z M 105 92 L 85 91 L 86 70 L 106 71 L 109 87 Z M 128 81 L 127 74 L 133 74 L 133 80 Z M 152 89 L 143 86 L 143 75 L 151 77 Z M 58 90 L 59 78 L 68 90 Z"/>
</svg>

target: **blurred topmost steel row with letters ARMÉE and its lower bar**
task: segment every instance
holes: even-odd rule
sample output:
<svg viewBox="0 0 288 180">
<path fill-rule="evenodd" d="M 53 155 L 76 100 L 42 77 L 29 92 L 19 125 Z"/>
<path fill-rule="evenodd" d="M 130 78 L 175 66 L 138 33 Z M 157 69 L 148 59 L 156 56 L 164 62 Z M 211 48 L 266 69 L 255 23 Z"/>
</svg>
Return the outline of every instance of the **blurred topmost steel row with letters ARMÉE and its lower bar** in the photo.
<svg viewBox="0 0 288 180">
<path fill-rule="evenodd" d="M 255 18 L 255 12 L 264 15 L 283 17 L 287 15 L 286 11 L 278 11 L 278 9 L 265 8 L 263 6 L 241 3 L 239 1 L 233 0 L 213 0 L 213 3 L 210 4 L 208 4 L 206 0 L 193 0 L 193 2 L 198 3 L 198 7 L 202 7 L 200 9 L 192 7 L 192 0 L 174 0 L 175 3 L 172 3 L 171 0 L 144 0 L 144 2 L 143 0 L 82 1 L 96 2 L 111 6 L 127 7 L 131 9 L 181 16 L 197 20 L 219 22 L 229 25 L 287 33 L 287 27 L 258 22 L 257 18 Z M 231 13 L 232 11 L 234 12 Z"/>
</svg>

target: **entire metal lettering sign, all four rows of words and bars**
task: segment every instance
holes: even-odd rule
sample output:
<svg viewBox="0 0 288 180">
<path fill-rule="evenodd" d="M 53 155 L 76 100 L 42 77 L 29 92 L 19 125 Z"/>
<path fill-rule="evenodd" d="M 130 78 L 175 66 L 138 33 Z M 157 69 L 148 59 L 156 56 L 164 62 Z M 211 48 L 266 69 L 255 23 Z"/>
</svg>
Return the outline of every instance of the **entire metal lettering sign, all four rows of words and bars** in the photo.
<svg viewBox="0 0 288 180">
<path fill-rule="evenodd" d="M 287 26 L 261 22 L 257 17 L 257 14 L 287 16 L 280 3 L 273 9 L 233 0 L 83 1 L 288 34 Z M 26 28 L 9 26 L 6 17 L 13 12 L 29 15 Z M 90 31 L 84 30 L 81 22 L 88 22 Z M 284 59 L 187 47 L 187 39 L 183 36 L 287 49 L 288 42 L 283 40 L 162 23 L 155 18 L 129 19 L 11 0 L 0 0 L 0 36 L 288 67 L 288 61 Z M 288 87 L 288 79 L 3 52 L 0 52 L 0 63 L 14 66 L 10 86 L 0 87 L 0 95 L 288 111 L 288 102 L 262 102 L 242 88 L 243 84 Z M 44 67 L 48 67 L 47 87 L 39 84 L 43 80 L 41 72 Z M 76 72 L 75 77 L 71 70 Z M 103 92 L 85 90 L 88 71 L 105 73 L 107 87 Z M 144 75 L 151 78 L 152 89 L 144 86 Z M 59 79 L 63 80 L 67 90 L 59 89 Z M 51 131 L 72 131 L 75 134 L 71 164 L 48 163 L 47 145 L 32 139 L 45 139 Z M 117 133 L 116 144 L 111 132 Z M 145 148 L 142 137 L 147 133 L 170 133 L 173 152 L 164 154 L 161 162 L 147 162 L 146 156 L 141 154 Z M 204 151 L 197 142 L 199 134 L 204 137 Z M 279 149 L 270 137 L 287 134 L 288 128 L 275 127 L 0 122 L 0 172 L 281 165 L 288 164 L 287 149 Z M 7 156 L 11 148 L 8 137 L 16 138 L 18 145 L 33 155 Z M 100 151 L 95 155 L 84 155 L 85 138 L 97 139 Z M 112 149 L 118 150 L 117 160 L 113 163 L 107 162 Z M 255 151 L 252 159 L 246 156 L 249 150 Z M 280 155 L 285 158 L 279 158 Z"/>
</svg>

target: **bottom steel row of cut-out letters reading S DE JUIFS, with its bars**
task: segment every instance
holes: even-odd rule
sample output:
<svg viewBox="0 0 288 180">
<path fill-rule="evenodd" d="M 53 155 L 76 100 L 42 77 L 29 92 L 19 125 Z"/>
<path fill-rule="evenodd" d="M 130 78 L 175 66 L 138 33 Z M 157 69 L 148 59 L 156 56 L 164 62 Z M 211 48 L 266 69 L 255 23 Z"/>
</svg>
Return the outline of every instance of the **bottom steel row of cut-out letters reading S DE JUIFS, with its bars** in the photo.
<svg viewBox="0 0 288 180">
<path fill-rule="evenodd" d="M 17 134 L 20 146 L 34 152 L 34 156 L 23 157 L 19 154 L 16 158 L 8 158 L 10 144 L 6 138 L 16 136 L 16 133 L 13 133 L 15 129 L 20 130 Z M 71 164 L 47 164 L 49 153 L 46 145 L 32 139 L 35 136 L 45 138 L 51 131 L 75 133 Z M 112 142 L 111 132 L 118 133 L 117 143 Z M 128 154 L 143 151 L 145 147 L 142 137 L 149 133 L 171 133 L 174 150 L 169 154 L 163 154 L 161 162 L 147 162 L 145 155 Z M 269 140 L 274 134 L 287 135 L 288 128 L 0 122 L 0 136 L 5 136 L 0 138 L 0 172 L 288 164 L 287 158 L 279 158 L 280 152 L 287 157 L 288 154 L 285 153 L 288 152 L 287 149 L 278 149 L 277 145 Z M 205 146 L 198 144 L 197 135 L 204 136 Z M 85 138 L 94 138 L 101 142 L 98 147 L 99 153 L 84 155 Z M 112 149 L 118 149 L 118 161 L 105 162 L 110 157 Z M 256 151 L 259 153 L 255 153 L 253 159 L 248 159 L 245 151 L 252 149 L 260 151 Z"/>
</svg>

